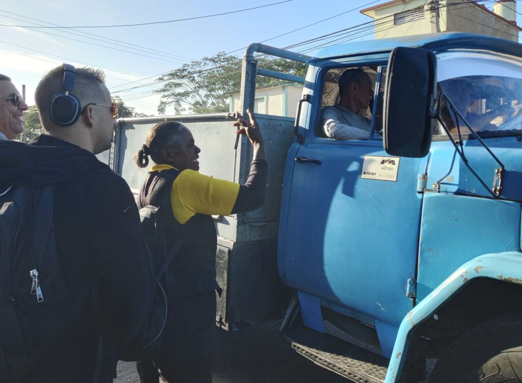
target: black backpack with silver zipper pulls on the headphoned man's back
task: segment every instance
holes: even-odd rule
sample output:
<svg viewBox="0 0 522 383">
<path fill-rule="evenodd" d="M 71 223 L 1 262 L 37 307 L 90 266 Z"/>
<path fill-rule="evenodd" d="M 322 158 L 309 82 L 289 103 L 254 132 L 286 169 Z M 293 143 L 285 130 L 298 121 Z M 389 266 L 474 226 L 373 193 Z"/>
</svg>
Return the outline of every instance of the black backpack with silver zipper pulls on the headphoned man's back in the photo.
<svg viewBox="0 0 522 383">
<path fill-rule="evenodd" d="M 63 343 L 91 296 L 73 298 L 58 266 L 53 188 L 0 190 L 0 381 L 26 376 Z"/>
</svg>

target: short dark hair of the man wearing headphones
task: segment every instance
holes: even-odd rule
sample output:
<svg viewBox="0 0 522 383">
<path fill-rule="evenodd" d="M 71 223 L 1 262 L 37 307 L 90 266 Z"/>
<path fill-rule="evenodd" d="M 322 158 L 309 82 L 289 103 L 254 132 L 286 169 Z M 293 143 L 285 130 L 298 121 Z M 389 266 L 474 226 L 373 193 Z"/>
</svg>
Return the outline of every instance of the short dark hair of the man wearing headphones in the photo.
<svg viewBox="0 0 522 383">
<path fill-rule="evenodd" d="M 34 102 L 40 113 L 44 129 L 55 126 L 49 117 L 51 99 L 57 93 L 64 93 L 63 88 L 64 65 L 52 69 L 38 83 L 34 92 Z M 100 85 L 105 84 L 105 74 L 101 69 L 90 67 L 76 68 L 74 90 L 71 92 L 82 103 L 99 102 L 101 95 Z"/>
</svg>

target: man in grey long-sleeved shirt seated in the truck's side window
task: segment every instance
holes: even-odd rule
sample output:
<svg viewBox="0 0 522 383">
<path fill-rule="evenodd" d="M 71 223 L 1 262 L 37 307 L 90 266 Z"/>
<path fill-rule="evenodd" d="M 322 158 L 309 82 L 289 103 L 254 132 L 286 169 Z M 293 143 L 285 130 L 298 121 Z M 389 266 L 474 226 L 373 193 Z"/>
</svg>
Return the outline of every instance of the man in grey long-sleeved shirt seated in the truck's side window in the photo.
<svg viewBox="0 0 522 383">
<path fill-rule="evenodd" d="M 369 107 L 373 93 L 372 80 L 363 70 L 345 70 L 339 78 L 339 103 L 323 108 L 326 136 L 336 140 L 369 138 L 371 121 L 360 112 Z"/>
</svg>

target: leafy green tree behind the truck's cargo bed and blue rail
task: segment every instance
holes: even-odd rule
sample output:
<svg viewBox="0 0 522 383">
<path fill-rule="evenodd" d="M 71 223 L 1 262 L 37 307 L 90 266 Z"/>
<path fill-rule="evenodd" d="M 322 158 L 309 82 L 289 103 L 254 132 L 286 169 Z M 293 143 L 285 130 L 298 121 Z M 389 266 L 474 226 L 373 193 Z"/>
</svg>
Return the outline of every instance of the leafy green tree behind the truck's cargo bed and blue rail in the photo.
<svg viewBox="0 0 522 383">
<path fill-rule="evenodd" d="M 306 64 L 286 59 L 258 57 L 259 68 L 289 73 L 296 76 L 306 74 Z M 210 70 L 207 70 L 212 68 Z M 229 111 L 229 95 L 241 87 L 241 59 L 220 52 L 200 61 L 184 64 L 157 79 L 163 86 L 158 113 L 165 114 L 167 106 L 173 106 L 176 114 L 219 113 Z M 281 80 L 257 77 L 257 87 L 280 85 Z"/>
</svg>

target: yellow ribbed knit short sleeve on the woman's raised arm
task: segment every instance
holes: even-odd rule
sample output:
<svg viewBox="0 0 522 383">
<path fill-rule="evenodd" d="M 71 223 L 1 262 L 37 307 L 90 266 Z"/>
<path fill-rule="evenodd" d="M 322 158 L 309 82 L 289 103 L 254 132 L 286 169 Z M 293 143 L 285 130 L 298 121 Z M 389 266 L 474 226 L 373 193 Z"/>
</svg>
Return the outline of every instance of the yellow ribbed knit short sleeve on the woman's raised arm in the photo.
<svg viewBox="0 0 522 383">
<path fill-rule="evenodd" d="M 238 198 L 239 186 L 194 170 L 184 170 L 172 184 L 170 198 L 174 218 L 185 223 L 197 213 L 226 216 Z"/>
</svg>

